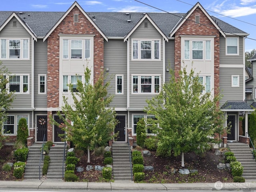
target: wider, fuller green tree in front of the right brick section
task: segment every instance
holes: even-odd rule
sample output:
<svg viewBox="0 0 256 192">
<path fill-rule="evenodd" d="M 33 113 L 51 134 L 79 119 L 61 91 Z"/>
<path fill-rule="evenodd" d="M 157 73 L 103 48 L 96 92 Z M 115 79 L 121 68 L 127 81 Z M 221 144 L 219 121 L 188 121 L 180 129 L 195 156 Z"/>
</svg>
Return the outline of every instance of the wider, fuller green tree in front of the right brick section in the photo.
<svg viewBox="0 0 256 192">
<path fill-rule="evenodd" d="M 145 111 L 155 115 L 160 127 L 155 131 L 159 138 L 157 154 L 181 154 L 184 166 L 184 153 L 203 153 L 210 142 L 216 142 L 214 134 L 224 129 L 224 116 L 218 107 L 220 95 L 203 93 L 204 86 L 193 69 L 187 74 L 184 67 L 177 78 L 173 71 L 170 74 L 170 82 L 163 85 L 160 94 L 146 100 Z"/>
</svg>

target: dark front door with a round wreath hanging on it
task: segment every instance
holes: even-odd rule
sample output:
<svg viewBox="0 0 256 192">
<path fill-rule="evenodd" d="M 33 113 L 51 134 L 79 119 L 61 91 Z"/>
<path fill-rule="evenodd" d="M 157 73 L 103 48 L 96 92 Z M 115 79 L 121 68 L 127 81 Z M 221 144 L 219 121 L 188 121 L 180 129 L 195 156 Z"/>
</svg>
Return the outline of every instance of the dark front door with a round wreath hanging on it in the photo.
<svg viewBox="0 0 256 192">
<path fill-rule="evenodd" d="M 47 115 L 36 116 L 36 141 L 47 141 Z"/>
</svg>

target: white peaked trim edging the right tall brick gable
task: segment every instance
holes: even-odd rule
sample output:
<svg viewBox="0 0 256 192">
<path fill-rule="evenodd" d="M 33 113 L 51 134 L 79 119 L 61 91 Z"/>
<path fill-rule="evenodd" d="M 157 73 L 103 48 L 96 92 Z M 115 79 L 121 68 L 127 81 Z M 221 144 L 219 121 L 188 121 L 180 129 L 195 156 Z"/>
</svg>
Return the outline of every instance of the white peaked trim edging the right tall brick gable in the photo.
<svg viewBox="0 0 256 192">
<path fill-rule="evenodd" d="M 190 17 L 190 15 L 194 12 L 194 10 L 196 10 L 196 8 L 200 8 L 202 10 L 202 12 L 206 15 L 206 17 L 215 26 L 215 28 L 217 30 L 219 30 L 219 32 L 226 38 L 226 34 L 220 29 L 220 27 L 216 24 L 216 22 L 214 22 L 214 20 L 211 18 L 211 16 L 208 14 L 208 12 L 206 12 L 206 10 L 202 7 L 202 5 L 199 2 L 196 3 L 196 5 L 194 5 L 194 7 L 192 9 L 190 9 L 190 11 L 184 16 L 184 18 L 181 18 L 181 20 L 178 23 L 178 25 L 176 26 L 176 28 L 174 28 L 170 32 L 170 37 L 172 37 L 176 33 L 176 31 L 184 24 L 184 22 Z"/>
</svg>

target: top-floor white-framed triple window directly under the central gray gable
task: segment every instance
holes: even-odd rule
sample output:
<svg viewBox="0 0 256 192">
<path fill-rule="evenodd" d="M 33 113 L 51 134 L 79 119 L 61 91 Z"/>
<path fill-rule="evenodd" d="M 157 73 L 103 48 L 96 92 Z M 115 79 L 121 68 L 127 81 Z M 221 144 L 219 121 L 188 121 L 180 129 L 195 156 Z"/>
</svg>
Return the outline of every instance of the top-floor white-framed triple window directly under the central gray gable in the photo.
<svg viewBox="0 0 256 192">
<path fill-rule="evenodd" d="M 132 40 L 132 60 L 160 60 L 160 40 Z"/>
</svg>

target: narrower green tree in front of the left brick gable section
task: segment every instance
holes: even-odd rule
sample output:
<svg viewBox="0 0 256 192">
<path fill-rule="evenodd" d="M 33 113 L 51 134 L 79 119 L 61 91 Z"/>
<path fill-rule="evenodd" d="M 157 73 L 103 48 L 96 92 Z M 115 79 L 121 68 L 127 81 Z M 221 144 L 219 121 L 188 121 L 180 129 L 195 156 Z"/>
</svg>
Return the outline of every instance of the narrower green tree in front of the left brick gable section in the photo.
<svg viewBox="0 0 256 192">
<path fill-rule="evenodd" d="M 78 80 L 77 92 L 73 92 L 72 84 L 68 85 L 72 93 L 74 104 L 68 103 L 68 98 L 63 97 L 64 105 L 58 116 L 63 124 L 57 124 L 66 132 L 67 140 L 74 143 L 76 148 L 87 150 L 90 162 L 90 150 L 97 146 L 104 146 L 117 134 L 113 135 L 114 128 L 118 123 L 116 112 L 110 108 L 113 96 L 108 95 L 107 88 L 110 82 L 104 84 L 103 72 L 94 85 L 90 82 L 91 70 L 84 70 L 85 82 Z M 62 114 L 66 116 L 63 118 Z"/>
</svg>

